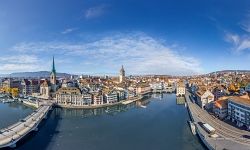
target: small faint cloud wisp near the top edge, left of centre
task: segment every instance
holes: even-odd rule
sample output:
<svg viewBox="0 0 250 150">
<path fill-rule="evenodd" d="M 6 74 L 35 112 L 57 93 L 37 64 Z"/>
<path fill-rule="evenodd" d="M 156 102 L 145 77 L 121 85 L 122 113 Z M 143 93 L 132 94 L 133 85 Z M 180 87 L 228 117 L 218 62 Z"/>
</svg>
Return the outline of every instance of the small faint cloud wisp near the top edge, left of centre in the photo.
<svg viewBox="0 0 250 150">
<path fill-rule="evenodd" d="M 105 12 L 106 5 L 99 5 L 95 7 L 91 7 L 85 11 L 85 18 L 96 18 L 101 16 Z"/>
</svg>

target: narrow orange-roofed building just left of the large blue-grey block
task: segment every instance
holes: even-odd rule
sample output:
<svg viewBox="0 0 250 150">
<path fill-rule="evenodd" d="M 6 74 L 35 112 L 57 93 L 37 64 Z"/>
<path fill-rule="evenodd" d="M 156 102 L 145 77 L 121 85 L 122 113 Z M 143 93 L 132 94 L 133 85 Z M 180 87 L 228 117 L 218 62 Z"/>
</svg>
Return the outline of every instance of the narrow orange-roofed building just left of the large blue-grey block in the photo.
<svg viewBox="0 0 250 150">
<path fill-rule="evenodd" d="M 229 97 L 221 97 L 214 102 L 213 112 L 215 116 L 218 116 L 220 119 L 227 117 L 227 105 Z"/>
</svg>

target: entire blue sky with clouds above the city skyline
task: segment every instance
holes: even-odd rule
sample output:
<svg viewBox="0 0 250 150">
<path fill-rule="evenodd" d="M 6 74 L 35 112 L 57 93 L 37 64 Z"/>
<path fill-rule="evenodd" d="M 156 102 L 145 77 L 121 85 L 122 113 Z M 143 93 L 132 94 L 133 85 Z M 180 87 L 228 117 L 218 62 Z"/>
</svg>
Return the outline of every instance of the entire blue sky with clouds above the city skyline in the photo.
<svg viewBox="0 0 250 150">
<path fill-rule="evenodd" d="M 0 72 L 250 69 L 247 0 L 2 0 Z"/>
</svg>

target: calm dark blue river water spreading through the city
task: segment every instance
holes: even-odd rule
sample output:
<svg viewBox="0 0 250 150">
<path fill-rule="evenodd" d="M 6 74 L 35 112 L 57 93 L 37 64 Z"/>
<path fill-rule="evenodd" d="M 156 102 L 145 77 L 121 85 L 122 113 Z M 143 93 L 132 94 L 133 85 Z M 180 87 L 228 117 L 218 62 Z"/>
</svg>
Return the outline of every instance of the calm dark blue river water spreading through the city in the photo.
<svg viewBox="0 0 250 150">
<path fill-rule="evenodd" d="M 177 103 L 180 102 L 174 94 L 163 94 L 127 106 L 89 110 L 55 108 L 39 126 L 39 131 L 19 142 L 17 149 L 205 149 L 190 131 L 187 109 Z M 19 117 L 25 116 L 30 109 L 23 110 Z M 3 114 L 0 114 L 1 120 L 6 119 Z M 12 115 L 9 117 L 16 118 Z"/>
</svg>

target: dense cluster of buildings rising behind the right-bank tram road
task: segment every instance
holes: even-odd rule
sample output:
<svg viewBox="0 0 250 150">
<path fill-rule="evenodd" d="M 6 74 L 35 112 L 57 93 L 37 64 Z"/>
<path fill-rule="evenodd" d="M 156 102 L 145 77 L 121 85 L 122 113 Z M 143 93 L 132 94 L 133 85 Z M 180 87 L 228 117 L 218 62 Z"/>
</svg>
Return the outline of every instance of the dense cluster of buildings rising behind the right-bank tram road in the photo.
<svg viewBox="0 0 250 150">
<path fill-rule="evenodd" d="M 222 73 L 188 79 L 195 102 L 220 119 L 250 130 L 250 75 Z"/>
</svg>

